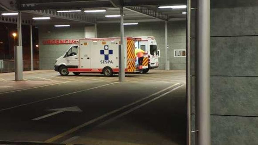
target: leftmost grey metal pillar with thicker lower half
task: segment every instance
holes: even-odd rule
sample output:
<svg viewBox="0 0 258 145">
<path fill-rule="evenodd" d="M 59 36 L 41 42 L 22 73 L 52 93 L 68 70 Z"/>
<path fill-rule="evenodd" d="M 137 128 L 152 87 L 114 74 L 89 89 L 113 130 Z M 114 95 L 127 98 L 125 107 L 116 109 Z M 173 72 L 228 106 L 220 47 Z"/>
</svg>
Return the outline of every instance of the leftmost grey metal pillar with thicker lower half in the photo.
<svg viewBox="0 0 258 145">
<path fill-rule="evenodd" d="M 14 46 L 15 81 L 23 80 L 23 59 L 22 59 L 22 34 L 21 34 L 21 12 L 18 12 L 17 30 L 18 46 Z"/>
</svg>

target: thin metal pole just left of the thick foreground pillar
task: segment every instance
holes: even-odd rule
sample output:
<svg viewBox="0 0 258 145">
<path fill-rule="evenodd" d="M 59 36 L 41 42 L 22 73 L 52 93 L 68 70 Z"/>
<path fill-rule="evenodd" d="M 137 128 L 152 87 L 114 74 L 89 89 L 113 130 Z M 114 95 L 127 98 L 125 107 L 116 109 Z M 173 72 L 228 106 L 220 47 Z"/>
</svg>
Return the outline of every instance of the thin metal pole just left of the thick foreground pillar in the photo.
<svg viewBox="0 0 258 145">
<path fill-rule="evenodd" d="M 186 24 L 186 95 L 187 95 L 187 145 L 192 145 L 191 117 L 191 0 L 187 0 Z"/>
</svg>

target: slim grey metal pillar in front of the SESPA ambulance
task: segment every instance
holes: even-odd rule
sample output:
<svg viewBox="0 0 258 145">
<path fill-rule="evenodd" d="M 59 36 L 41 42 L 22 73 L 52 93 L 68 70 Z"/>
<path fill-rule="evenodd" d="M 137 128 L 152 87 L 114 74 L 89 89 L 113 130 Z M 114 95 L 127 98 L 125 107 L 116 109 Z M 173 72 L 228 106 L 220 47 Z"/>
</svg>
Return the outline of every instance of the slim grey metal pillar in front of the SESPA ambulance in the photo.
<svg viewBox="0 0 258 145">
<path fill-rule="evenodd" d="M 120 32 L 121 32 L 121 44 L 119 48 L 119 81 L 125 81 L 125 49 L 124 49 L 124 10 L 123 7 L 120 7 Z"/>
</svg>

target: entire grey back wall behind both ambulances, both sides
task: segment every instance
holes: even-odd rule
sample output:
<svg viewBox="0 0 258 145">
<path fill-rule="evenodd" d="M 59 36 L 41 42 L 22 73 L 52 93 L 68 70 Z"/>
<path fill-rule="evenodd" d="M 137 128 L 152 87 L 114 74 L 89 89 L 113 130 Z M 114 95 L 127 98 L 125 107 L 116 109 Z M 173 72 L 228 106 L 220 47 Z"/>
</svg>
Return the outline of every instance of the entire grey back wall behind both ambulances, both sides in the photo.
<svg viewBox="0 0 258 145">
<path fill-rule="evenodd" d="M 139 23 L 139 25 L 126 25 L 125 36 L 155 36 L 157 45 L 161 50 L 160 66 L 158 69 L 165 68 L 165 23 L 164 22 L 148 22 Z M 119 23 L 108 23 L 97 25 L 98 37 L 119 37 Z M 45 39 L 64 39 L 64 38 L 83 38 L 84 25 L 72 25 L 68 28 L 54 28 L 52 25 L 39 26 L 39 65 L 40 69 L 53 69 L 55 59 L 60 57 L 68 49 L 69 45 L 43 45 L 42 40 Z M 171 21 L 168 23 L 168 58 L 170 61 L 170 69 L 185 69 L 185 57 L 174 57 L 174 49 L 186 48 L 186 22 Z"/>
</svg>

